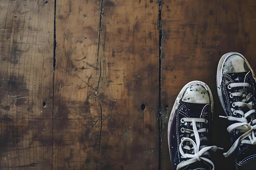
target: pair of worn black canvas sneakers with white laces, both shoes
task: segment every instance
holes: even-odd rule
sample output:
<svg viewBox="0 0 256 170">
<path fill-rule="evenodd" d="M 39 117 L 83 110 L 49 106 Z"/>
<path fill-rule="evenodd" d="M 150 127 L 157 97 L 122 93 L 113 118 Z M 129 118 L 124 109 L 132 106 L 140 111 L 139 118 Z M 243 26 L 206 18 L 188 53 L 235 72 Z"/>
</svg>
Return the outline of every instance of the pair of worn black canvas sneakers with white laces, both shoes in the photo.
<svg viewBox="0 0 256 170">
<path fill-rule="evenodd" d="M 256 170 L 256 77 L 243 55 L 226 53 L 217 69 L 217 91 L 229 126 L 238 170 Z M 213 95 L 207 84 L 192 81 L 178 94 L 168 121 L 168 146 L 173 170 L 214 170 L 210 129 Z"/>
</svg>

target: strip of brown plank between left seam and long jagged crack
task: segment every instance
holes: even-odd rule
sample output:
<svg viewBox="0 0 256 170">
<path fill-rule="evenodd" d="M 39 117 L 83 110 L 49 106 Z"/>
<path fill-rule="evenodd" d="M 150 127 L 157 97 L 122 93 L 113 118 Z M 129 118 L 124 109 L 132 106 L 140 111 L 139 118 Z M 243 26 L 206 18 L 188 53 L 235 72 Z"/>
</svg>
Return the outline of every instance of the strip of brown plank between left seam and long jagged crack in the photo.
<svg viewBox="0 0 256 170">
<path fill-rule="evenodd" d="M 56 2 L 53 169 L 95 169 L 101 119 L 95 99 L 101 3 Z"/>
</svg>

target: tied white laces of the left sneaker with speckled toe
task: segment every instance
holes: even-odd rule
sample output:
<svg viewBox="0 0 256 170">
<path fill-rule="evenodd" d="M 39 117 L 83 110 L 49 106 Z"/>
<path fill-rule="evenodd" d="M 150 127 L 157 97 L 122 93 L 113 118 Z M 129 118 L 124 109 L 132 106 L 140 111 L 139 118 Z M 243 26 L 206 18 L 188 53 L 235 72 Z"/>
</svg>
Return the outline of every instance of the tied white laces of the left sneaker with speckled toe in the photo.
<svg viewBox="0 0 256 170">
<path fill-rule="evenodd" d="M 201 157 L 202 155 L 209 155 L 209 152 L 207 152 L 208 150 L 213 150 L 216 151 L 217 149 L 223 149 L 223 148 L 218 148 L 217 146 L 200 146 L 200 137 L 199 137 L 199 132 L 207 132 L 207 128 L 202 128 L 202 129 L 197 129 L 197 125 L 196 123 L 207 123 L 207 120 L 204 118 L 190 118 L 190 117 L 186 117 L 183 118 L 182 121 L 184 122 L 191 122 L 193 130 L 190 129 L 185 129 L 183 128 L 184 132 L 189 133 L 190 136 L 195 136 L 195 141 L 193 141 L 191 138 L 188 137 L 183 137 L 181 139 L 181 143 L 179 146 L 179 150 L 180 153 L 182 155 L 183 158 L 190 158 L 186 161 L 182 161 L 177 165 L 177 170 L 179 170 L 182 167 L 186 167 L 191 163 L 194 163 L 196 161 L 201 161 L 202 159 L 206 162 L 209 162 L 212 166 L 213 166 L 213 170 L 214 170 L 214 164 L 213 162 L 205 157 Z M 201 140 L 205 140 L 201 138 Z M 207 139 L 206 139 L 207 140 Z M 183 143 L 185 141 L 189 141 L 193 147 L 190 148 L 189 146 L 184 145 Z M 188 153 L 184 153 L 183 148 L 186 150 L 192 150 L 193 152 L 191 154 Z"/>
</svg>

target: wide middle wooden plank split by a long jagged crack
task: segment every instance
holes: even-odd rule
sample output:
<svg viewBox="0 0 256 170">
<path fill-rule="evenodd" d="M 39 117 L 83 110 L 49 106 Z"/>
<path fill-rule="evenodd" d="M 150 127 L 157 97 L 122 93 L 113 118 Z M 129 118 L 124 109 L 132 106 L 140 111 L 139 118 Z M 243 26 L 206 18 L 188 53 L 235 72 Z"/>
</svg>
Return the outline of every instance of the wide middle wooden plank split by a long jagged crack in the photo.
<svg viewBox="0 0 256 170">
<path fill-rule="evenodd" d="M 54 169 L 157 169 L 157 24 L 156 2 L 57 2 Z"/>
</svg>

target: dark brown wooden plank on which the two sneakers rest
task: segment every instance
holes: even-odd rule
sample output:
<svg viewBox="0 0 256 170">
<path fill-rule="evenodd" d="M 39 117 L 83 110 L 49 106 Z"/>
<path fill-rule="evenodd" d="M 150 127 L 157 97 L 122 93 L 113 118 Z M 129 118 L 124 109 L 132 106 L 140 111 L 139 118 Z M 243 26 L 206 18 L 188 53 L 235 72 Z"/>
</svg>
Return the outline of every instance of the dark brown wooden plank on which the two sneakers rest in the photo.
<svg viewBox="0 0 256 170">
<path fill-rule="evenodd" d="M 223 147 L 224 151 L 229 149 L 230 142 L 227 121 L 218 117 L 224 115 L 224 111 L 216 91 L 217 65 L 223 54 L 237 51 L 256 69 L 255 5 L 253 0 L 162 0 L 162 108 L 165 105 L 172 108 L 187 82 L 201 80 L 207 83 L 215 102 L 212 144 Z M 167 127 L 164 128 L 167 134 Z M 220 150 L 213 153 L 213 162 L 217 170 L 236 169 L 234 158 L 225 158 Z M 171 169 L 167 137 L 162 148 L 162 169 Z"/>
</svg>

